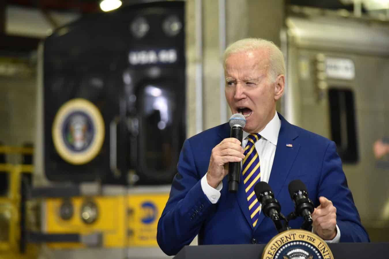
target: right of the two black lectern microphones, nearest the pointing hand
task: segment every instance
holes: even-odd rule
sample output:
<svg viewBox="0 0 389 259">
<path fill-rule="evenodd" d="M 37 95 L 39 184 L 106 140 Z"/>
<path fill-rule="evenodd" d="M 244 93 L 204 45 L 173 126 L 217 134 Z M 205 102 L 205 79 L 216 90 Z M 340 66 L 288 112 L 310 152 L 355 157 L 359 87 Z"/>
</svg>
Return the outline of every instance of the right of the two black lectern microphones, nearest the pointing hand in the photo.
<svg viewBox="0 0 389 259">
<path fill-rule="evenodd" d="M 296 216 L 304 218 L 302 229 L 309 230 L 312 225 L 312 212 L 314 212 L 314 204 L 308 198 L 307 187 L 301 180 L 293 180 L 288 186 L 289 194 L 294 202 Z"/>
</svg>

